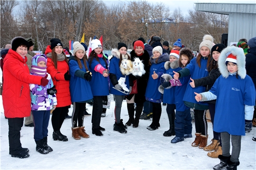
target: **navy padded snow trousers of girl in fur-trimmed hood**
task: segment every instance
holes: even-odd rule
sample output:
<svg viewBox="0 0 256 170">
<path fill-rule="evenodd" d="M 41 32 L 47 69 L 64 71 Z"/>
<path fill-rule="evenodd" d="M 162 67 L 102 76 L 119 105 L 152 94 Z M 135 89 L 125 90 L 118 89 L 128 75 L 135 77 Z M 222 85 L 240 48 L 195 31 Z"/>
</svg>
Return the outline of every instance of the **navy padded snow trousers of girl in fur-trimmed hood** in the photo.
<svg viewBox="0 0 256 170">
<path fill-rule="evenodd" d="M 184 134 L 192 133 L 192 118 L 190 114 L 190 109 L 185 111 L 176 111 L 175 115 L 175 134 L 178 137 L 183 137 Z"/>
</svg>

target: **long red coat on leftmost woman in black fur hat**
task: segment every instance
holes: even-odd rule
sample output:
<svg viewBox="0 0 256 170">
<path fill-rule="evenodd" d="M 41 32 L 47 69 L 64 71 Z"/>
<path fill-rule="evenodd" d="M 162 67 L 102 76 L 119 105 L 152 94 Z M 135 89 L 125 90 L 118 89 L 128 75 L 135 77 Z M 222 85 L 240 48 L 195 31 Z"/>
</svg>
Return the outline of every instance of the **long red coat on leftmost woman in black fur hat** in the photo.
<svg viewBox="0 0 256 170">
<path fill-rule="evenodd" d="M 30 116 L 31 99 L 29 84 L 41 84 L 41 76 L 32 76 L 24 59 L 9 49 L 4 58 L 3 108 L 7 118 L 24 118 Z"/>
</svg>

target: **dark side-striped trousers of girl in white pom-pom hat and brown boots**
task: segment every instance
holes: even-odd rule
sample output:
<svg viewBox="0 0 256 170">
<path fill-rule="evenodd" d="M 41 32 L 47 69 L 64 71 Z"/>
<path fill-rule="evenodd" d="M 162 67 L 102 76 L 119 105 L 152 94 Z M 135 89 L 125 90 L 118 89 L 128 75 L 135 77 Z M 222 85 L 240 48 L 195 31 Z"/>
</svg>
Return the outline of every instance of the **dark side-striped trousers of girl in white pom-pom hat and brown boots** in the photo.
<svg viewBox="0 0 256 170">
<path fill-rule="evenodd" d="M 194 110 L 196 133 L 207 136 L 206 110 Z"/>
</svg>

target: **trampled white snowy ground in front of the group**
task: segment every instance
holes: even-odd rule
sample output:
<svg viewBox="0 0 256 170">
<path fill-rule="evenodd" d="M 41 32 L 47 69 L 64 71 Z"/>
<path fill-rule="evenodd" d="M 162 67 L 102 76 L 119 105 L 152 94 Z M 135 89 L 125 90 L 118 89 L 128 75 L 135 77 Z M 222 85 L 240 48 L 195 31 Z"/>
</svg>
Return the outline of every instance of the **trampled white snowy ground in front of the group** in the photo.
<svg viewBox="0 0 256 170">
<path fill-rule="evenodd" d="M 0 103 L 2 103 L 1 97 Z M 106 131 L 103 132 L 104 136 L 91 134 L 91 116 L 89 116 L 85 117 L 84 126 L 90 138 L 74 140 L 71 135 L 71 119 L 65 119 L 61 132 L 68 137 L 68 141 L 54 141 L 50 119 L 48 144 L 54 151 L 46 155 L 36 152 L 33 128 L 22 127 L 20 140 L 23 147 L 29 148 L 30 157 L 18 159 L 9 155 L 8 120 L 4 119 L 3 107 L 0 104 L 0 168 L 2 170 L 210 170 L 219 163 L 219 159 L 208 157 L 206 151 L 191 146 L 194 140 L 194 123 L 193 138 L 171 144 L 170 141 L 174 136 L 163 136 L 164 131 L 169 129 L 166 106 L 162 107 L 161 128 L 149 131 L 146 127 L 151 124 L 151 121 L 140 120 L 139 127 L 128 127 L 127 134 L 120 134 L 113 131 L 114 105 L 115 103 L 112 101 L 110 109 L 107 110 L 107 116 L 101 118 L 101 127 L 106 128 Z M 92 107 L 87 105 L 87 108 L 91 112 Z M 71 115 L 72 109 L 69 110 L 69 115 Z M 128 120 L 125 101 L 121 119 L 124 119 L 124 123 Z M 211 123 L 208 123 L 208 132 L 209 144 L 213 137 Z M 256 136 L 256 127 L 251 133 L 242 137 L 239 170 L 256 170 L 256 142 L 252 140 L 253 136 Z"/>
</svg>

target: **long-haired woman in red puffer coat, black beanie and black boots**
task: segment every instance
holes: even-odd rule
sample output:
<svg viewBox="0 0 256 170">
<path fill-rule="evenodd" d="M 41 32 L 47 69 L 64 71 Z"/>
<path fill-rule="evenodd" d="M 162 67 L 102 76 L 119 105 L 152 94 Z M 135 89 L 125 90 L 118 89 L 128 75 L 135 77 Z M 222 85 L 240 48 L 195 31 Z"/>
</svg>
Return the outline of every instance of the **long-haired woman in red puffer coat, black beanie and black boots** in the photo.
<svg viewBox="0 0 256 170">
<path fill-rule="evenodd" d="M 71 97 L 69 91 L 70 75 L 68 60 L 63 52 L 63 45 L 57 38 L 50 40 L 51 45 L 46 48 L 47 56 L 47 73 L 53 79 L 53 83 L 57 90 L 56 98 L 58 104 L 52 115 L 53 139 L 60 141 L 68 141 L 67 136 L 60 132 L 60 128 L 64 122 L 65 116 L 68 113 L 68 108 L 71 105 Z"/>
</svg>

